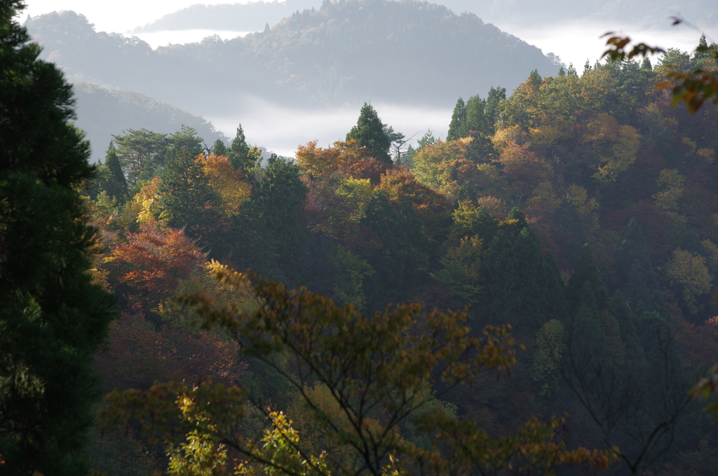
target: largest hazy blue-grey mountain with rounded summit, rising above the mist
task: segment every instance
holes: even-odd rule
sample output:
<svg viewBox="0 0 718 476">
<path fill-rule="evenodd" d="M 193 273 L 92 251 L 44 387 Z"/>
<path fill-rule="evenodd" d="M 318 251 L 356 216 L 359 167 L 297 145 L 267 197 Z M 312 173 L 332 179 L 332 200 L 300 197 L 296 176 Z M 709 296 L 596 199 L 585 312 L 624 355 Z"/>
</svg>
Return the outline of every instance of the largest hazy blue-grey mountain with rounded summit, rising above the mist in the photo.
<svg viewBox="0 0 718 476">
<path fill-rule="evenodd" d="M 475 15 L 419 1 L 326 1 L 264 32 L 154 51 L 135 37 L 95 32 L 73 12 L 38 16 L 27 27 L 73 81 L 215 113 L 235 109 L 246 95 L 295 105 L 446 104 L 559 67 Z"/>
</svg>

